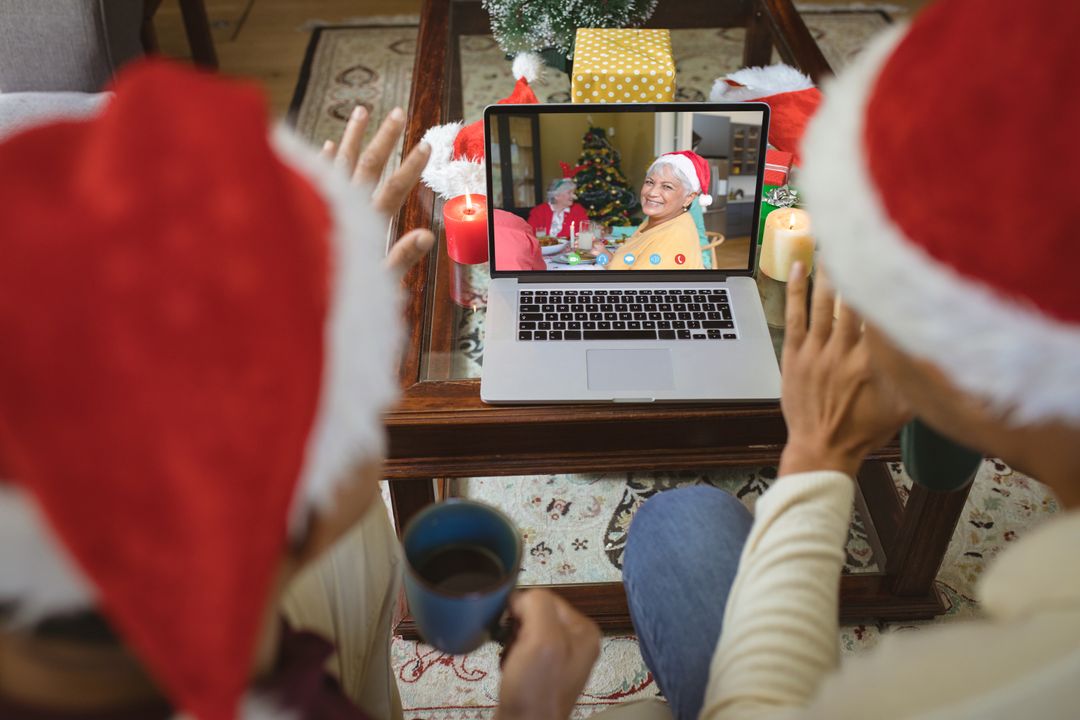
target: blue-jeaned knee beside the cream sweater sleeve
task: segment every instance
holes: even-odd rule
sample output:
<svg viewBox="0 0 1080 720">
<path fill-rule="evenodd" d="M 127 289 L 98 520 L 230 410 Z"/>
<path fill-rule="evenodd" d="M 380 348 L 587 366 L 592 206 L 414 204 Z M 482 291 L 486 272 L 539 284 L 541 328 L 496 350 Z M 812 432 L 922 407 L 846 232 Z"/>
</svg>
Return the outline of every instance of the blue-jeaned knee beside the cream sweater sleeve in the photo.
<svg viewBox="0 0 1080 720">
<path fill-rule="evenodd" d="M 679 488 L 634 515 L 622 560 L 645 664 L 679 720 L 698 717 L 753 516 L 724 490 Z"/>
</svg>

